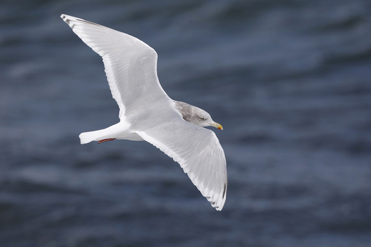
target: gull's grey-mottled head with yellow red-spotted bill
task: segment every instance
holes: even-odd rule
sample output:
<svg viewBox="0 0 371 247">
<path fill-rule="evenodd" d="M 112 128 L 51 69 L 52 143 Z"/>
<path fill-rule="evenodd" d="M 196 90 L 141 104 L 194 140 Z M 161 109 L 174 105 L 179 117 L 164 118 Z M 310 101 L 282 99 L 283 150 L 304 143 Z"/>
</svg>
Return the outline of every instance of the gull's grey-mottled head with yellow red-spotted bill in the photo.
<svg viewBox="0 0 371 247">
<path fill-rule="evenodd" d="M 213 121 L 210 114 L 198 107 L 189 105 L 181 101 L 176 101 L 175 107 L 181 113 L 183 119 L 188 123 L 200 127 L 213 126 L 218 129 L 223 129 L 223 126 L 221 124 Z"/>
</svg>

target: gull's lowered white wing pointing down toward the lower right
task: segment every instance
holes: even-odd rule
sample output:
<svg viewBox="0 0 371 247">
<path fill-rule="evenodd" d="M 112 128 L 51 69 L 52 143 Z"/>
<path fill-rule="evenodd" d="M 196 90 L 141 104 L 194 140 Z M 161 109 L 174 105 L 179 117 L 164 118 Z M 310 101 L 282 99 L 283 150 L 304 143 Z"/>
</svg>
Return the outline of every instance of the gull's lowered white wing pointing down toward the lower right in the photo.
<svg viewBox="0 0 371 247">
<path fill-rule="evenodd" d="M 180 116 L 152 126 L 134 132 L 178 162 L 211 206 L 222 210 L 227 196 L 227 166 L 215 133 Z"/>
</svg>

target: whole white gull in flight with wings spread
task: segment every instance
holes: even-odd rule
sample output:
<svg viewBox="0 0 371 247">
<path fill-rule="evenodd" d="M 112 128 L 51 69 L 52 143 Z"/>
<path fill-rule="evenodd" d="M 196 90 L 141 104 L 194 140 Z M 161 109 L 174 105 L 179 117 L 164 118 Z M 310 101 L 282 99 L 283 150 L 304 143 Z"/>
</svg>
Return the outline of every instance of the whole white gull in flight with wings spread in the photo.
<svg viewBox="0 0 371 247">
<path fill-rule="evenodd" d="M 171 99 L 157 77 L 157 53 L 128 34 L 62 14 L 61 18 L 104 63 L 118 124 L 79 135 L 81 144 L 125 139 L 145 140 L 178 162 L 216 210 L 227 196 L 227 165 L 215 133 L 223 129 L 206 111 Z"/>
</svg>

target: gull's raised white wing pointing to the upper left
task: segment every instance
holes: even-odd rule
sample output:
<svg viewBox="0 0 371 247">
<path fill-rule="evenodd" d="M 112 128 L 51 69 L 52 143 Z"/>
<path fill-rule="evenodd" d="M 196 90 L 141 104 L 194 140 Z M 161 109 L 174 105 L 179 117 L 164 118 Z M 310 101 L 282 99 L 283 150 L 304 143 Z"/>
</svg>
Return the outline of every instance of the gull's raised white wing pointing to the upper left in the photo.
<svg viewBox="0 0 371 247">
<path fill-rule="evenodd" d="M 157 53 L 146 43 L 80 18 L 64 14 L 61 18 L 103 58 L 121 121 L 135 116 L 139 107 L 146 109 L 154 102 L 171 100 L 157 78 Z"/>
</svg>

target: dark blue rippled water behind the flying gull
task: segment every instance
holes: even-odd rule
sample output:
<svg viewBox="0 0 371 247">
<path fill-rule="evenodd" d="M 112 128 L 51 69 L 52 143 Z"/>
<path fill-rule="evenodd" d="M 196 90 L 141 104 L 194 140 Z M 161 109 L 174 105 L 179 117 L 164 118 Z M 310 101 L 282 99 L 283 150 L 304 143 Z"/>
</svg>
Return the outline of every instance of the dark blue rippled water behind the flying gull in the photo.
<svg viewBox="0 0 371 247">
<path fill-rule="evenodd" d="M 221 212 L 148 143 L 80 145 L 118 107 L 62 13 L 223 124 Z M 371 246 L 369 0 L 1 1 L 0 75 L 1 247 Z"/>
</svg>

